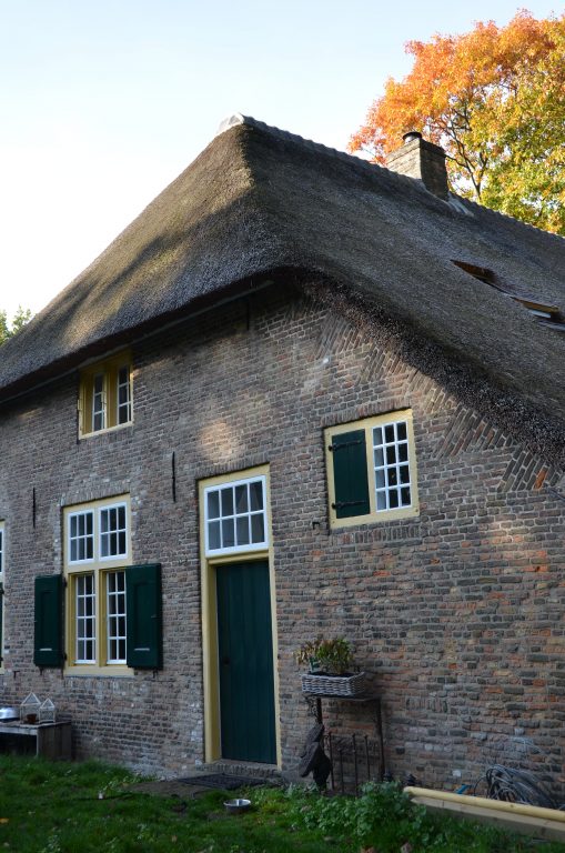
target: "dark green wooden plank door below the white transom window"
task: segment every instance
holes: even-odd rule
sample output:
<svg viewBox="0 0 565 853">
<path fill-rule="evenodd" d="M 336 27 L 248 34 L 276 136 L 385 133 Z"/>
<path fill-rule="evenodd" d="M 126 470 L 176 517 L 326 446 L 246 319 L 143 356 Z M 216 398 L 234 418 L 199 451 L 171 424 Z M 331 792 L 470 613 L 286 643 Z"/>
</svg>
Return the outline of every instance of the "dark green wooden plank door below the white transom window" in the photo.
<svg viewBox="0 0 565 853">
<path fill-rule="evenodd" d="M 276 762 L 269 563 L 216 569 L 222 757 Z"/>
</svg>

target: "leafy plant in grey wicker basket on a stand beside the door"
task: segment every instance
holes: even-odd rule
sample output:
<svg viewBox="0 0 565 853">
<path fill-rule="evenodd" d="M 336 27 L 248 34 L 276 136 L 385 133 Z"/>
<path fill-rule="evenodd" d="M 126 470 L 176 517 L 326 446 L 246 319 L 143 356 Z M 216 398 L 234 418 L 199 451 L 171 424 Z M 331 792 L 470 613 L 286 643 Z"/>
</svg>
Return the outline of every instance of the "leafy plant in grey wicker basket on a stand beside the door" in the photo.
<svg viewBox="0 0 565 853">
<path fill-rule="evenodd" d="M 320 634 L 301 645 L 294 658 L 310 670 L 302 675 L 304 693 L 354 696 L 364 691 L 365 673 L 353 671 L 353 650 L 344 636 L 326 640 Z"/>
</svg>

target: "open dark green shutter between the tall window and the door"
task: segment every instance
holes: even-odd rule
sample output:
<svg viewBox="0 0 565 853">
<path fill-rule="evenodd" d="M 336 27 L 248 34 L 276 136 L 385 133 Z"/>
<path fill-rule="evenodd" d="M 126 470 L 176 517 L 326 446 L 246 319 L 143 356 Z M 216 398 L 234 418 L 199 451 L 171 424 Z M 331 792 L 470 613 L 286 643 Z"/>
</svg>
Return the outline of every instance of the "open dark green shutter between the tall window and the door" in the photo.
<svg viewBox="0 0 565 853">
<path fill-rule="evenodd" d="M 157 670 L 162 666 L 161 565 L 125 569 L 128 666 Z"/>
</svg>

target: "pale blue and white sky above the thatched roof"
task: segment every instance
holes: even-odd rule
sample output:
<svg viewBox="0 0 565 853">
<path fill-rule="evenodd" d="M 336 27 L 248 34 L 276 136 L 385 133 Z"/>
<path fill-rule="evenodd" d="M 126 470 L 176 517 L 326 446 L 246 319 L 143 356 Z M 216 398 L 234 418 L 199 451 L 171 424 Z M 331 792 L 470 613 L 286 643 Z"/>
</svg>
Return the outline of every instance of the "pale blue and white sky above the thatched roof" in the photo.
<svg viewBox="0 0 565 853">
<path fill-rule="evenodd" d="M 233 113 L 345 150 L 404 43 L 515 0 L 0 0 L 0 310 L 42 309 Z M 564 9 L 531 0 L 536 18 Z"/>
</svg>

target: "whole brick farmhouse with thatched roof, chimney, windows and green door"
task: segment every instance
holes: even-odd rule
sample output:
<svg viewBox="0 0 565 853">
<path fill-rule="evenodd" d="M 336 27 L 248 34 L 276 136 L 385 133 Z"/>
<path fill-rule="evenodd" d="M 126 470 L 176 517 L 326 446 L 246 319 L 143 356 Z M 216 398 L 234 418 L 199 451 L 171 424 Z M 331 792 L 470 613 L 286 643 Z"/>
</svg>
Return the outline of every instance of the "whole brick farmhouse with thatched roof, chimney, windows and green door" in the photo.
<svg viewBox="0 0 565 853">
<path fill-rule="evenodd" d="M 2 347 L 0 695 L 77 756 L 292 772 L 322 633 L 394 775 L 559 781 L 565 243 L 389 165 L 234 117 Z"/>
</svg>

